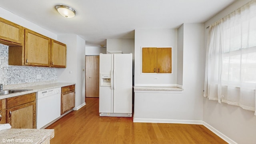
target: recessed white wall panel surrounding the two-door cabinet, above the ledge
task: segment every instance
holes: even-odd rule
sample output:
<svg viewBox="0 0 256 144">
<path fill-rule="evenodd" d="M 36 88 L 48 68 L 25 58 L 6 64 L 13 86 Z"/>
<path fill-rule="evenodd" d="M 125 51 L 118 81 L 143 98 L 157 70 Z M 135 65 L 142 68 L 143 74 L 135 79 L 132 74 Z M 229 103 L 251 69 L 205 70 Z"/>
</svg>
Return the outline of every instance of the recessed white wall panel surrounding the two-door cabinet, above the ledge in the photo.
<svg viewBox="0 0 256 144">
<path fill-rule="evenodd" d="M 142 74 L 141 47 L 166 46 L 172 47 L 172 74 Z M 177 29 L 137 29 L 134 48 L 134 86 L 170 86 L 177 83 Z"/>
</svg>

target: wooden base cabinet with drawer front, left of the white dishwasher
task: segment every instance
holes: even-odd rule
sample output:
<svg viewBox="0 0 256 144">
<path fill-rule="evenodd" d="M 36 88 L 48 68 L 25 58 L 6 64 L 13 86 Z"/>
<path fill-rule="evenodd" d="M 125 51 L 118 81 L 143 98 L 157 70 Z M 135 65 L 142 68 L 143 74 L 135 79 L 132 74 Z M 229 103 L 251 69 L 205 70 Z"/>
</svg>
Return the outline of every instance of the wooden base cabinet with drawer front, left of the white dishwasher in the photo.
<svg viewBox="0 0 256 144">
<path fill-rule="evenodd" d="M 12 128 L 36 128 L 36 93 L 6 98 L 6 122 Z"/>
</svg>

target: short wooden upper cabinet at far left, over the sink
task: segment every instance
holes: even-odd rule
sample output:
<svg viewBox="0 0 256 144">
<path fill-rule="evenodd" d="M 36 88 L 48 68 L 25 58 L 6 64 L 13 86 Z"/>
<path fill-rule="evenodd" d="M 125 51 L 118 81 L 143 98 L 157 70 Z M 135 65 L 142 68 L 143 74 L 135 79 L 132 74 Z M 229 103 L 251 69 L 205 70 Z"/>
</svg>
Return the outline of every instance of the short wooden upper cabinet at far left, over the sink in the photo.
<svg viewBox="0 0 256 144">
<path fill-rule="evenodd" d="M 8 20 L 0 18 L 0 43 L 8 46 L 22 45 L 24 28 Z"/>
</svg>

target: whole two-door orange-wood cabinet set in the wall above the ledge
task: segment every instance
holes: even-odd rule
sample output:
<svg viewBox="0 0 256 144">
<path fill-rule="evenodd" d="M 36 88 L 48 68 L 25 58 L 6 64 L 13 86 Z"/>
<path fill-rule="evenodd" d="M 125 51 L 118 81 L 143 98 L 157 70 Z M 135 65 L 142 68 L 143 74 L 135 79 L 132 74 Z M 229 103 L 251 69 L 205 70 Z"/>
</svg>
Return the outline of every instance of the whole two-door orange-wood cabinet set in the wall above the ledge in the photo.
<svg viewBox="0 0 256 144">
<path fill-rule="evenodd" d="M 142 48 L 143 73 L 172 73 L 172 48 Z"/>
</svg>

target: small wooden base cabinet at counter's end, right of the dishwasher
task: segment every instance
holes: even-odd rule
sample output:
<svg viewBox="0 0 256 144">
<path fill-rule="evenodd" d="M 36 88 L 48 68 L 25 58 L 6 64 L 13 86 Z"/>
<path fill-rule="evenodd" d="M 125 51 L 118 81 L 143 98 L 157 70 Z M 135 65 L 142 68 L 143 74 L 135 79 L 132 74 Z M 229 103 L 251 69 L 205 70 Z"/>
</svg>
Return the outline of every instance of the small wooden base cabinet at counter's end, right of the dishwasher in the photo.
<svg viewBox="0 0 256 144">
<path fill-rule="evenodd" d="M 75 85 L 64 86 L 61 88 L 61 112 L 64 114 L 75 107 Z"/>
</svg>

